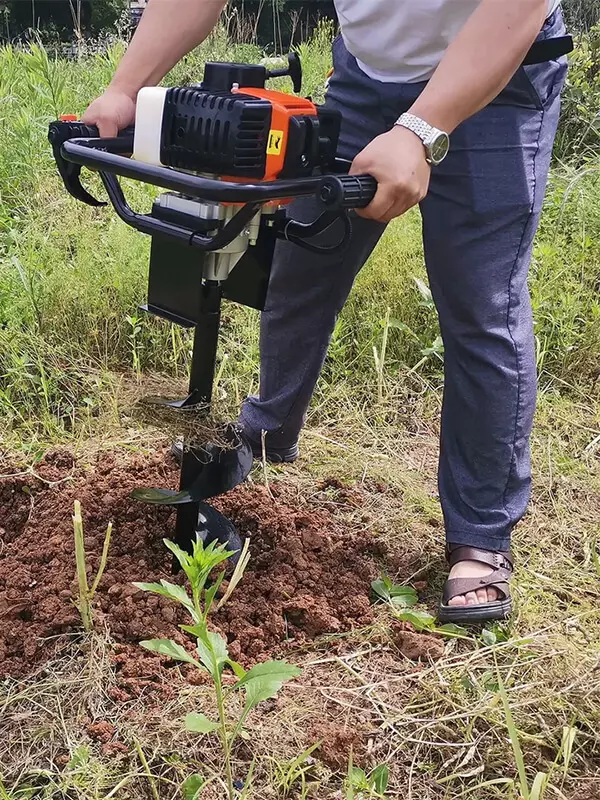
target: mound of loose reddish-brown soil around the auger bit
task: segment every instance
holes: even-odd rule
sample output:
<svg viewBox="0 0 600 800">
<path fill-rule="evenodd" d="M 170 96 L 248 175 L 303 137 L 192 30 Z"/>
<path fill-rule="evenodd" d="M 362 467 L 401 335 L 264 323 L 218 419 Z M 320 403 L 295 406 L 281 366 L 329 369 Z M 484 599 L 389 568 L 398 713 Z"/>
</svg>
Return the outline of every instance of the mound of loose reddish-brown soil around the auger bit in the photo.
<svg viewBox="0 0 600 800">
<path fill-rule="evenodd" d="M 87 465 L 61 452 L 36 470 L 39 478 L 15 475 L 0 481 L 0 677 L 27 674 L 81 630 L 73 604 L 71 521 L 73 500 L 79 499 L 90 578 L 108 521 L 114 526 L 94 603 L 97 622 L 103 621 L 119 643 L 115 699 L 158 688 L 164 684 L 164 660 L 137 642 L 164 636 L 184 643 L 177 626 L 189 620 L 171 601 L 132 583 L 184 579 L 170 575 L 170 554 L 162 543 L 173 535 L 174 514 L 132 500 L 130 491 L 175 486 L 177 470 L 165 452 L 152 457 L 103 453 Z M 213 617 L 232 657 L 246 663 L 372 621 L 369 585 L 381 555 L 373 537 L 349 529 L 327 510 L 299 506 L 283 486 L 272 492 L 274 497 L 246 484 L 214 500 L 251 542 L 241 585 Z"/>
</svg>

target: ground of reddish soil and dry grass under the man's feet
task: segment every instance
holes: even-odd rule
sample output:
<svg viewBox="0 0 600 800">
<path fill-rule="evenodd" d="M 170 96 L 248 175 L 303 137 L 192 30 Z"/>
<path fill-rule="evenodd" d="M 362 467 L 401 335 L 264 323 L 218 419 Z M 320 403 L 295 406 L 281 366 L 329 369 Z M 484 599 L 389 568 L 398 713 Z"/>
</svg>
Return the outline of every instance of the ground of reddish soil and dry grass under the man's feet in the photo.
<svg viewBox="0 0 600 800">
<path fill-rule="evenodd" d="M 530 787 L 537 772 L 550 773 L 546 797 L 600 797 L 600 491 L 593 448 L 582 445 L 597 422 L 590 411 L 574 428 L 570 407 L 549 408 L 538 415 L 536 493 L 516 539 L 510 625 L 454 638 L 416 632 L 373 604 L 371 581 L 386 573 L 417 589 L 419 609 L 435 611 L 444 566 L 434 415 L 395 433 L 385 422 L 361 429 L 357 418 L 353 427 L 309 427 L 298 464 L 257 467 L 215 501 L 250 537 L 251 560 L 214 629 L 246 666 L 285 657 L 303 670 L 259 706 L 237 747 L 239 779 L 255 759 L 249 797 L 349 797 L 352 757 L 367 772 L 389 765 L 388 797 L 516 798 L 519 753 Z M 132 585 L 170 576 L 161 539 L 172 515 L 129 497 L 135 486 L 174 485 L 167 442 L 88 442 L 85 451 L 51 450 L 33 467 L 9 460 L 3 475 L 8 797 L 45 787 L 57 798 L 156 800 L 176 796 L 193 772 L 218 776 L 216 741 L 194 739 L 181 722 L 192 709 L 209 713 L 210 687 L 138 645 L 153 636 L 187 642 L 177 628 L 184 615 Z M 91 636 L 73 605 L 75 498 L 90 574 L 114 524 Z M 315 744 L 303 793 L 290 765 Z M 224 797 L 218 777 L 200 797 Z"/>
</svg>

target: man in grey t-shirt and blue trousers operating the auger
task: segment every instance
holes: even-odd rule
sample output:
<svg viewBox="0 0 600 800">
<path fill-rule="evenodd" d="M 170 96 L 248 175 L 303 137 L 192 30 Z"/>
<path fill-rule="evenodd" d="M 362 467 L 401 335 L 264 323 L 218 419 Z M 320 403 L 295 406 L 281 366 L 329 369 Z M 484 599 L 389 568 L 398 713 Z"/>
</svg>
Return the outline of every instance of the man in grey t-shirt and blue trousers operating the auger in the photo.
<svg viewBox="0 0 600 800">
<path fill-rule="evenodd" d="M 261 320 L 260 396 L 241 415 L 254 444 L 268 432 L 270 458 L 297 456 L 353 280 L 385 224 L 420 203 L 445 346 L 439 487 L 451 571 L 442 620 L 499 619 L 511 609 L 510 536 L 529 500 L 536 393 L 526 278 L 566 59 L 521 64 L 536 38 L 564 33 L 558 3 L 336 0 L 342 33 L 327 103 L 343 116 L 339 155 L 379 188 L 344 256 L 278 248 Z M 129 125 L 139 89 L 198 45 L 224 5 L 152 0 L 85 122 L 102 136 Z M 298 218 L 313 218 L 313 203 L 299 201 Z"/>
</svg>

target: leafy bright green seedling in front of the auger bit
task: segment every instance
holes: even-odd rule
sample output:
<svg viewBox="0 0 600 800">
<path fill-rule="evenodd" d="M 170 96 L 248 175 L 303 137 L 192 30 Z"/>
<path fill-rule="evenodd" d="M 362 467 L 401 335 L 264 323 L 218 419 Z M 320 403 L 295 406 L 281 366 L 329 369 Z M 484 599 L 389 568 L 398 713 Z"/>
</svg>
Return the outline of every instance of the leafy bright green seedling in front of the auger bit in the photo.
<svg viewBox="0 0 600 800">
<path fill-rule="evenodd" d="M 265 661 L 246 671 L 241 664 L 229 658 L 225 639 L 218 633 L 209 630 L 208 615 L 215 607 L 215 597 L 223 582 L 225 572 L 220 572 L 212 583 L 209 583 L 209 578 L 213 570 L 232 556 L 233 552 L 228 551 L 225 545 L 217 545 L 216 542 L 211 542 L 205 547 L 199 536 L 196 536 L 191 553 L 186 553 L 168 539 L 165 539 L 164 542 L 185 572 L 191 588 L 191 597 L 182 586 L 176 586 L 165 580 L 160 583 L 136 583 L 134 585 L 145 592 L 169 597 L 186 609 L 194 624 L 180 627 L 195 637 L 196 655 L 191 655 L 184 647 L 171 639 L 150 639 L 140 642 L 140 644 L 147 650 L 168 656 L 175 661 L 193 664 L 197 669 L 208 672 L 210 675 L 215 689 L 218 719 L 212 720 L 205 714 L 192 712 L 185 718 L 185 727 L 188 731 L 200 735 L 216 733 L 219 736 L 225 763 L 227 794 L 229 800 L 233 800 L 236 790 L 233 782 L 231 754 L 235 740 L 242 732 L 252 709 L 263 700 L 275 697 L 282 685 L 291 678 L 297 677 L 300 670 L 285 661 Z M 244 559 L 244 562 L 247 563 L 247 558 Z M 236 583 L 241 577 L 241 572 L 238 570 Z M 236 683 L 227 688 L 223 685 L 225 669 L 231 669 L 237 677 Z M 237 692 L 245 695 L 245 702 L 238 718 L 231 719 L 227 713 L 227 700 Z M 194 782 L 189 784 L 189 791 L 191 792 L 192 788 L 196 786 L 197 783 Z M 197 793 L 197 791 L 198 788 L 195 788 L 194 792 Z"/>
</svg>

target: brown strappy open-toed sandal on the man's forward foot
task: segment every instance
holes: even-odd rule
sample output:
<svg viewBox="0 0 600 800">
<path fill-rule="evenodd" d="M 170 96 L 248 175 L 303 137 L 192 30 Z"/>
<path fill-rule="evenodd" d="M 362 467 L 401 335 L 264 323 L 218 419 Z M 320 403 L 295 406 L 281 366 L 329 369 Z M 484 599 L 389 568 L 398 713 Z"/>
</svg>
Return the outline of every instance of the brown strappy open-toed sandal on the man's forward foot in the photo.
<svg viewBox="0 0 600 800">
<path fill-rule="evenodd" d="M 482 578 L 448 578 L 444 586 L 442 602 L 438 611 L 440 622 L 477 623 L 506 619 L 512 611 L 509 581 L 513 571 L 510 552 L 481 550 L 479 547 L 468 547 L 461 544 L 449 544 L 446 547 L 448 564 L 453 567 L 459 561 L 479 561 L 489 564 L 494 571 Z M 499 600 L 473 605 L 450 606 L 448 602 L 477 589 L 494 588 L 500 594 Z"/>
</svg>

